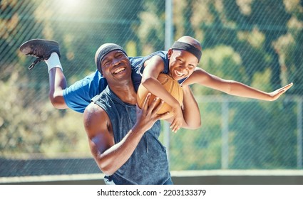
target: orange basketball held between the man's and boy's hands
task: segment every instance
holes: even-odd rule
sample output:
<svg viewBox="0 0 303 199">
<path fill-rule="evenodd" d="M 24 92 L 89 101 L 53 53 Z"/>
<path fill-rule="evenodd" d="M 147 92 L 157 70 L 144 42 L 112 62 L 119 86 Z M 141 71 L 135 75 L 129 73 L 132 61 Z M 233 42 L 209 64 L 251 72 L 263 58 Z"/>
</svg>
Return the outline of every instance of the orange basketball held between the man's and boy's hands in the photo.
<svg viewBox="0 0 303 199">
<path fill-rule="evenodd" d="M 161 85 L 163 85 L 165 90 L 170 93 L 170 95 L 172 95 L 173 97 L 175 97 L 175 99 L 178 100 L 179 104 L 181 105 L 183 102 L 183 90 L 182 87 L 179 85 L 178 81 L 174 80 L 173 77 L 170 77 L 169 75 L 163 73 L 160 73 L 160 75 L 158 76 L 158 81 L 161 83 Z M 149 91 L 142 84 L 139 85 L 137 92 L 137 102 L 140 109 L 142 109 L 143 107 L 143 103 L 145 97 L 148 95 L 148 92 Z M 153 99 L 155 99 L 155 95 L 152 94 L 150 96 L 150 101 L 148 105 L 153 102 Z M 163 107 L 158 111 L 158 114 L 163 114 L 165 112 L 170 113 L 163 119 L 173 117 L 172 107 L 170 107 L 170 105 L 164 102 Z"/>
</svg>

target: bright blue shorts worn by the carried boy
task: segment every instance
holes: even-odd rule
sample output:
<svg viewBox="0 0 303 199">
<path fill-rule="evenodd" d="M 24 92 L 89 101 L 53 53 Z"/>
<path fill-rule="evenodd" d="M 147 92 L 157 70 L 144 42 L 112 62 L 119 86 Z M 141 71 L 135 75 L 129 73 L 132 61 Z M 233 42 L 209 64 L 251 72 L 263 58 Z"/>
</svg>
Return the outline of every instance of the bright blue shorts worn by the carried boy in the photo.
<svg viewBox="0 0 303 199">
<path fill-rule="evenodd" d="M 91 103 L 91 98 L 100 94 L 106 86 L 106 79 L 96 70 L 93 74 L 66 87 L 63 90 L 63 98 L 69 108 L 83 113 Z"/>
</svg>

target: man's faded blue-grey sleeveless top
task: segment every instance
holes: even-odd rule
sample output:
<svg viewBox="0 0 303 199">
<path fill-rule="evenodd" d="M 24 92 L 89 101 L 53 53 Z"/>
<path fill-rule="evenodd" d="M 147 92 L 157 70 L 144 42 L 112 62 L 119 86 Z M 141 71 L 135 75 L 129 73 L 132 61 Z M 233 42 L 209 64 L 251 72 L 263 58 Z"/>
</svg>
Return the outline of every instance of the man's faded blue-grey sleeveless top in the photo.
<svg viewBox="0 0 303 199">
<path fill-rule="evenodd" d="M 111 119 L 115 144 L 128 134 L 136 122 L 136 107 L 122 102 L 109 87 L 92 99 Z M 160 143 L 160 121 L 146 131 L 128 161 L 112 176 L 115 184 L 165 184 L 171 182 L 165 147 Z"/>
</svg>

